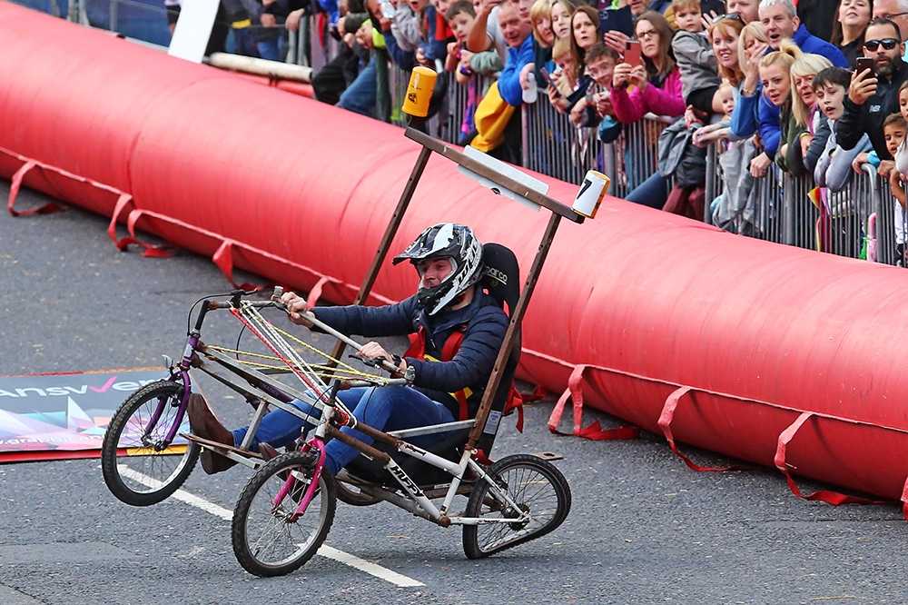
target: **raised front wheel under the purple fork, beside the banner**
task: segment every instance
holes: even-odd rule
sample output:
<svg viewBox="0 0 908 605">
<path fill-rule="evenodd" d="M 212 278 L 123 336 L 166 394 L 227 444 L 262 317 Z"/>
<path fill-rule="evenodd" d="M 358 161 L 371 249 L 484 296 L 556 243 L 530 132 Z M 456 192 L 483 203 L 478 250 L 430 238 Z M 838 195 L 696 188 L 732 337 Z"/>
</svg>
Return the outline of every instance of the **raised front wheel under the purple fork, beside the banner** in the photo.
<svg viewBox="0 0 908 605">
<path fill-rule="evenodd" d="M 163 441 L 177 422 L 183 388 L 173 381 L 146 384 L 114 413 L 104 433 L 101 470 L 107 488 L 121 501 L 133 506 L 157 504 L 183 485 L 192 472 L 199 459 L 199 445 Z M 159 402 L 163 402 L 163 410 L 150 425 Z M 189 431 L 188 419 L 185 431 Z"/>
</svg>

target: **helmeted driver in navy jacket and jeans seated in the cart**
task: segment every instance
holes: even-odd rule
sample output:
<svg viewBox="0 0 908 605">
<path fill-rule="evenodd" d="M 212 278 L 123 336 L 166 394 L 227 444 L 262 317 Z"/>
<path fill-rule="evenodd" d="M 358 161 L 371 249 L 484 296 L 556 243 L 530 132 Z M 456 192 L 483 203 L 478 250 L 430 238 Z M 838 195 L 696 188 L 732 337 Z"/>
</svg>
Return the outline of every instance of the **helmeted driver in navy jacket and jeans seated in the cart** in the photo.
<svg viewBox="0 0 908 605">
<path fill-rule="evenodd" d="M 378 342 L 368 342 L 356 354 L 366 360 L 385 359 L 408 376 L 410 386 L 388 386 L 350 389 L 338 397 L 360 422 L 383 431 L 397 431 L 419 426 L 472 418 L 479 409 L 482 392 L 501 343 L 508 329 L 508 316 L 488 294 L 477 287 L 482 277 L 482 245 L 472 230 L 464 225 L 440 223 L 429 227 L 394 258 L 394 263 L 409 260 L 419 273 L 419 290 L 403 302 L 381 307 L 350 305 L 306 308 L 306 302 L 295 293 L 285 293 L 281 299 L 287 305 L 291 322 L 311 327 L 310 315 L 344 332 L 363 336 L 400 336 L 417 333 L 425 352 L 400 358 L 387 352 Z M 459 346 L 450 359 L 445 349 L 449 337 L 462 332 Z M 411 348 L 412 350 L 412 348 Z M 431 360 L 431 361 L 430 361 Z M 434 361 L 441 360 L 441 361 Z M 466 411 L 461 410 L 458 393 L 465 398 Z M 308 403 L 295 401 L 292 405 L 305 414 L 318 416 Z M 242 443 L 248 427 L 228 431 L 208 409 L 201 395 L 193 393 L 189 403 L 192 432 L 199 437 L 237 446 Z M 311 424 L 289 412 L 275 410 L 265 415 L 252 450 L 266 457 L 274 448 L 291 443 L 301 431 L 311 430 Z M 359 431 L 342 431 L 371 443 Z M 410 441 L 429 447 L 442 441 L 449 433 L 433 433 Z M 332 440 L 325 448 L 326 464 L 337 474 L 358 455 L 358 451 L 340 440 Z M 224 471 L 233 461 L 211 451 L 202 451 L 202 469 L 212 474 Z"/>
</svg>

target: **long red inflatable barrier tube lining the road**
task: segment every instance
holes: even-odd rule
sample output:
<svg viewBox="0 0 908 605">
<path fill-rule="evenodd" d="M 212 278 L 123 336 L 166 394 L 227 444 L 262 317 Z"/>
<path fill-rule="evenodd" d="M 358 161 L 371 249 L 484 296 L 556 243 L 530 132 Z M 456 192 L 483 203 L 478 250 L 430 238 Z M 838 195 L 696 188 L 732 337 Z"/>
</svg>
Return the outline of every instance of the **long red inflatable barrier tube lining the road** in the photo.
<svg viewBox="0 0 908 605">
<path fill-rule="evenodd" d="M 324 298 L 350 301 L 419 153 L 399 128 L 8 3 L 0 39 L 0 174 L 225 273 L 303 290 L 325 278 Z M 576 186 L 540 178 L 573 199 Z M 547 217 L 435 157 L 392 249 L 440 220 L 528 263 Z M 569 383 L 559 405 L 586 402 L 673 447 L 898 499 L 905 276 L 608 199 L 595 221 L 561 226 L 521 372 L 551 391 Z M 387 268 L 372 302 L 413 279 Z"/>
</svg>

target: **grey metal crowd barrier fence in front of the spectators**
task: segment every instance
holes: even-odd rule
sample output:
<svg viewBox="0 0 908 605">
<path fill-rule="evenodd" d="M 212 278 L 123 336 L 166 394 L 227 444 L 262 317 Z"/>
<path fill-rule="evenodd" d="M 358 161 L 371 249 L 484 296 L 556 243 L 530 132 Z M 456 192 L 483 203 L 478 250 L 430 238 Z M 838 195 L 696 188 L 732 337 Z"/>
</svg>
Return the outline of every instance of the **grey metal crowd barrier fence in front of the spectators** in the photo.
<svg viewBox="0 0 908 605">
<path fill-rule="evenodd" d="M 166 28 L 163 6 L 151 5 L 150 0 L 16 0 L 54 15 L 63 13 L 74 21 L 86 25 L 109 28 L 126 35 L 135 22 L 153 18 L 153 28 Z M 121 7 L 120 5 L 123 5 Z M 94 18 L 86 18 L 94 11 Z M 125 16 L 129 11 L 129 19 Z M 143 15 L 143 11 L 152 17 Z M 133 15 L 135 13 L 135 15 Z M 130 23 L 126 23 L 129 21 Z M 307 16 L 301 21 L 299 32 L 288 32 L 287 61 L 310 65 L 318 71 L 337 55 L 342 42 L 328 32 L 327 20 Z M 143 35 L 133 35 L 146 39 Z M 391 67 L 389 77 L 393 124 L 405 124 L 400 114 L 400 104 L 410 81 L 410 73 Z M 462 86 L 450 79 L 448 94 L 438 114 L 428 123 L 429 133 L 452 143 L 462 138 L 464 116 L 479 103 L 491 82 L 490 77 L 474 75 L 469 86 Z M 589 169 L 597 169 L 612 179 L 609 193 L 624 197 L 657 169 L 657 142 L 659 134 L 671 122 L 668 118 L 647 115 L 635 124 L 624 124 L 623 132 L 614 143 L 602 144 L 597 128 L 577 128 L 568 115 L 559 114 L 546 102 L 540 91 L 538 102 L 524 104 L 523 165 L 542 174 L 548 174 L 569 183 L 580 183 Z M 469 122 L 468 122 L 469 124 Z M 710 204 L 724 193 L 725 181 L 716 145 L 710 145 L 706 155 L 706 222 L 712 222 Z M 735 233 L 742 233 L 775 243 L 785 243 L 806 249 L 820 250 L 844 256 L 859 257 L 864 253 L 869 237 L 868 220 L 875 220 L 877 262 L 895 263 L 896 225 L 904 233 L 906 213 L 896 213 L 895 200 L 889 183 L 865 166 L 864 174 L 854 174 L 851 183 L 842 192 L 828 193 L 824 200 L 812 201 L 809 193 L 814 189 L 810 178 L 792 178 L 780 175 L 775 165 L 764 178 L 755 179 L 754 192 L 746 209 L 747 216 L 736 223 L 723 225 Z M 820 210 L 823 207 L 824 210 Z M 897 218 L 898 217 L 898 218 Z"/>
</svg>

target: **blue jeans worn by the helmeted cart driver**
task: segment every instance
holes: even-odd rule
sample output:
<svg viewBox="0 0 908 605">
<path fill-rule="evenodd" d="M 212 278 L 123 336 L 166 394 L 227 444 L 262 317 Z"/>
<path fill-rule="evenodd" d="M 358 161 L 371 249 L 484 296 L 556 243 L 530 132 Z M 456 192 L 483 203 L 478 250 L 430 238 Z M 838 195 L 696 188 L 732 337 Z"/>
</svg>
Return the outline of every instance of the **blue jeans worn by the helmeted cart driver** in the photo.
<svg viewBox="0 0 908 605">
<path fill-rule="evenodd" d="M 348 408 L 352 409 L 357 420 L 368 424 L 380 431 L 400 431 L 418 426 L 429 426 L 443 422 L 454 422 L 454 414 L 439 402 L 429 399 L 426 395 L 404 386 L 370 387 L 350 389 L 338 393 L 338 398 Z M 291 405 L 306 415 L 315 419 L 321 418 L 321 413 L 308 403 L 295 400 Z M 311 431 L 314 424 L 304 422 L 298 416 L 283 410 L 268 412 L 262 418 L 259 431 L 252 439 L 252 451 L 258 451 L 262 441 L 276 448 L 283 447 L 300 436 L 302 431 Z M 242 443 L 249 427 L 233 431 L 233 443 Z M 341 428 L 341 432 L 349 434 L 364 443 L 371 444 L 372 439 L 360 431 Z M 443 441 L 454 431 L 420 435 L 408 439 L 410 443 L 422 448 L 427 448 L 433 443 Z M 337 474 L 359 455 L 359 451 L 351 448 L 346 443 L 334 439 L 325 447 L 325 463 L 331 472 Z"/>
</svg>

